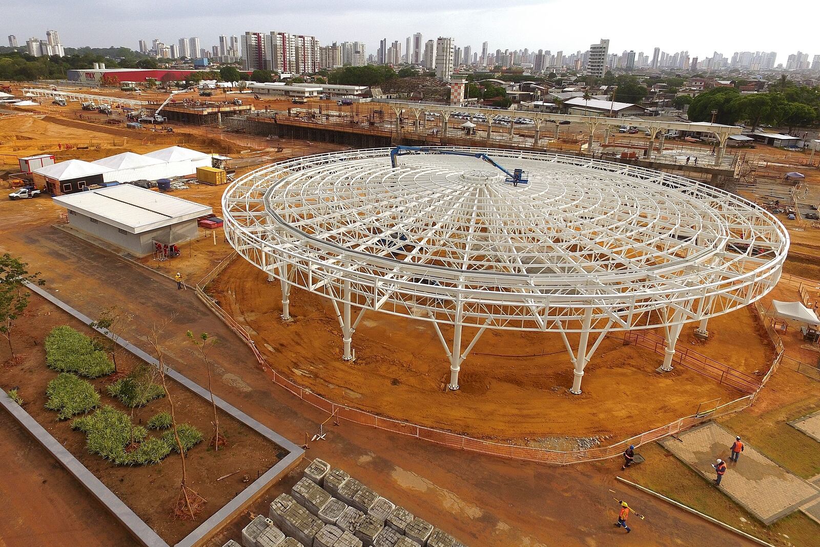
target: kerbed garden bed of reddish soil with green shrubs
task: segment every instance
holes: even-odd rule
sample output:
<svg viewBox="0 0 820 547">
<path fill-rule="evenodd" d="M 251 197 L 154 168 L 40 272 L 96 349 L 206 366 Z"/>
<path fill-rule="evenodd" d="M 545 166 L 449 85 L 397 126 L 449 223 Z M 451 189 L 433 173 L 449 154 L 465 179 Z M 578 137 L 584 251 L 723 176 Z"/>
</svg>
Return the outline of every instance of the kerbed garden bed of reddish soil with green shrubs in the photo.
<svg viewBox="0 0 820 547">
<path fill-rule="evenodd" d="M 31 300 L 16 328 L 22 333 L 16 339 L 18 359 L 0 367 L 0 387 L 16 388 L 25 411 L 171 545 L 286 454 L 222 411 L 219 432 L 225 445 L 215 451 L 208 443 L 211 401 L 166 376 L 177 440 L 156 370 L 121 351 L 115 373 L 103 344 L 93 341 L 95 332 L 43 299 Z M 190 366 L 205 367 L 195 355 L 192 351 Z M 195 521 L 172 516 L 180 494 L 180 444 L 186 484 L 207 499 Z"/>
</svg>

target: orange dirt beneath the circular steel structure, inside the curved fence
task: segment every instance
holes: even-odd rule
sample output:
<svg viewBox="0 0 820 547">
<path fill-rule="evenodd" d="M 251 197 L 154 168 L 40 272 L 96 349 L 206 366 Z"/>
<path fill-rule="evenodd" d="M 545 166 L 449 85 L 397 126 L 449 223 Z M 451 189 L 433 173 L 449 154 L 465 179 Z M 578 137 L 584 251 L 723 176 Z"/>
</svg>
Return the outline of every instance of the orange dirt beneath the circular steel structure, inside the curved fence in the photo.
<svg viewBox="0 0 820 547">
<path fill-rule="evenodd" d="M 558 335 L 491 330 L 462 364 L 461 390 L 447 393 L 448 362 L 427 322 L 366 314 L 353 336 L 358 359 L 350 364 L 341 360 L 339 326 L 325 299 L 294 289 L 294 321 L 284 323 L 279 284 L 267 283 L 242 258 L 212 283 L 212 294 L 248 326 L 271 366 L 299 384 L 337 403 L 481 438 L 572 449 L 566 435 L 621 440 L 695 413 L 699 403 L 742 396 L 681 367 L 660 376 L 660 355 L 624 346 L 616 336 L 587 366 L 584 394 L 572 395 L 572 367 Z M 742 346 L 728 364 L 767 370 L 771 350 L 751 314 L 713 320 L 713 340 L 696 349 L 725 358 Z"/>
</svg>

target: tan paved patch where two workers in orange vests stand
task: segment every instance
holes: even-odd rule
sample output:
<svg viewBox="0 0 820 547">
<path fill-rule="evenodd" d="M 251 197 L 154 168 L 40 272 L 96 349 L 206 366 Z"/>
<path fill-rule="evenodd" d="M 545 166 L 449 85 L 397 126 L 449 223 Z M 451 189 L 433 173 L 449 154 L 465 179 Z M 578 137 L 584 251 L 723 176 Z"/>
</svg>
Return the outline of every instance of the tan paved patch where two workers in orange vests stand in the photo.
<svg viewBox="0 0 820 547">
<path fill-rule="evenodd" d="M 661 444 L 710 481 L 715 478 L 712 467 L 715 460 L 726 460 L 727 472 L 719 488 L 767 526 L 820 497 L 816 486 L 786 471 L 748 444 L 738 463 L 728 461 L 735 434 L 717 423 L 708 422 L 678 436 L 681 440 L 667 437 Z"/>
</svg>

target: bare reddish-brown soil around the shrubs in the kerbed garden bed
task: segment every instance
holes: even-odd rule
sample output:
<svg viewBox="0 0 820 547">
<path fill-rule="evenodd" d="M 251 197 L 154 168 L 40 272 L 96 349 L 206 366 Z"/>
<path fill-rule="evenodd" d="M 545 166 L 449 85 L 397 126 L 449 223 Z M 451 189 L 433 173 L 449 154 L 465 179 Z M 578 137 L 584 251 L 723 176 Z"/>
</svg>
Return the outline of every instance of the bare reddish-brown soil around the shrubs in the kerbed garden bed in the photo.
<svg viewBox="0 0 820 547">
<path fill-rule="evenodd" d="M 32 296 L 30 302 L 25 317 L 17 321 L 16 325 L 16 329 L 21 333 L 17 339 L 16 351 L 23 356 L 23 361 L 18 365 L 7 364 L 0 368 L 0 386 L 5 390 L 20 386 L 19 393 L 25 401 L 23 408 L 171 545 L 193 531 L 207 517 L 216 513 L 216 510 L 244 490 L 247 486 L 242 481 L 244 475 L 248 475 L 252 481 L 256 480 L 257 474 L 266 472 L 284 457 L 285 453 L 275 444 L 271 444 L 261 435 L 225 416 L 224 413 L 220 415 L 220 432 L 225 436 L 228 446 L 213 452 L 207 447 L 207 440 L 213 431 L 211 404 L 171 382 L 170 389 L 177 419 L 180 423 L 190 423 L 203 432 L 203 442 L 187 454 L 186 467 L 189 486 L 208 500 L 195 522 L 172 519 L 171 505 L 179 492 L 181 473 L 180 458 L 177 454 L 171 453 L 157 465 L 117 467 L 86 451 L 85 436 L 80 431 L 71 431 L 71 420 L 58 422 L 56 413 L 43 408 L 47 399 L 45 387 L 48 381 L 57 376 L 57 372 L 45 366 L 45 336 L 57 325 L 70 325 L 86 334 L 90 334 L 90 329 L 39 296 Z M 185 340 L 169 340 L 168 343 L 185 344 Z M 193 354 L 193 349 L 190 352 L 191 364 L 204 367 Z M 0 355 L 6 359 L 7 349 Z M 121 352 L 117 355 L 117 363 L 123 373 L 130 370 L 136 362 L 138 360 L 130 353 Z M 105 393 L 104 385 L 107 382 L 105 377 L 92 381 L 102 395 L 102 403 L 112 404 L 116 408 L 130 412 Z M 166 410 L 167 399 L 157 399 L 144 408 L 136 409 L 134 422 L 144 423 L 155 413 Z M 218 477 L 231 472 L 238 473 L 222 481 L 216 481 Z M 87 495 L 83 496 L 83 499 L 88 499 Z"/>
</svg>

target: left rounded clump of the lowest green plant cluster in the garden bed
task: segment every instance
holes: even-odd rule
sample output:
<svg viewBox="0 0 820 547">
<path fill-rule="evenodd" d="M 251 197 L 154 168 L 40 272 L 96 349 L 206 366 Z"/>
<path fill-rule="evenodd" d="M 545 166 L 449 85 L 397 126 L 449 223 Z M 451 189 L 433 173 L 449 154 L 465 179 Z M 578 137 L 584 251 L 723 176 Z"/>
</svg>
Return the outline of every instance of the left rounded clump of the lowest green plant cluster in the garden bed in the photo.
<svg viewBox="0 0 820 547">
<path fill-rule="evenodd" d="M 76 419 L 71 426 L 85 433 L 85 447 L 117 465 L 127 465 L 130 454 L 125 452 L 133 442 L 141 442 L 148 435 L 143 426 L 134 426 L 128 414 L 105 405 L 97 412 Z"/>
</svg>

